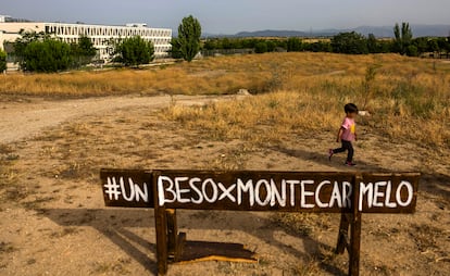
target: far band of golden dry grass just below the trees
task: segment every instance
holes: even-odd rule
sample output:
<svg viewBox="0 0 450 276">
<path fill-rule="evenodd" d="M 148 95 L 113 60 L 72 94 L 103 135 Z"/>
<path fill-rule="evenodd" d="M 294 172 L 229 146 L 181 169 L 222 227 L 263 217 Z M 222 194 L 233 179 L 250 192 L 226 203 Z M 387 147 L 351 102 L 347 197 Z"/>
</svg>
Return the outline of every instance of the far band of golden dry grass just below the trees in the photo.
<svg viewBox="0 0 450 276">
<path fill-rule="evenodd" d="M 146 70 L 71 72 L 63 74 L 8 74 L 0 95 L 87 97 L 125 93 L 229 93 L 239 88 L 264 92 L 274 88 L 309 89 L 330 76 L 340 85 L 360 83 L 365 67 L 380 64 L 380 83 L 399 79 L 435 81 L 450 64 L 393 54 L 340 55 L 330 53 L 268 53 L 211 58 Z M 337 74 L 341 72 L 341 74 Z M 439 77 L 438 77 L 439 78 Z M 332 77 L 332 81 L 334 78 Z M 437 79 L 440 81 L 440 79 Z M 448 79 L 447 79 L 448 81 Z M 358 88 L 358 87 L 354 87 Z M 383 88 L 383 87 L 382 87 Z"/>
</svg>

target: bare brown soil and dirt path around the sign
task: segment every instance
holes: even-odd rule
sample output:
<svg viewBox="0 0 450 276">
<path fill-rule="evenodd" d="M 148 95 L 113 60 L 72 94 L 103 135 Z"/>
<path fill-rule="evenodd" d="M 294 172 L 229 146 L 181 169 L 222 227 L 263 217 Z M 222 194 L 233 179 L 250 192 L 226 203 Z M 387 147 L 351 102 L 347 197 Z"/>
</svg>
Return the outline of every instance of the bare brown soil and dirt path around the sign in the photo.
<svg viewBox="0 0 450 276">
<path fill-rule="evenodd" d="M 154 275 L 152 210 L 104 208 L 101 167 L 418 171 L 412 215 L 364 214 L 361 275 L 448 275 L 450 152 L 392 143 L 361 127 L 359 166 L 326 156 L 334 133 L 276 145 L 214 140 L 160 113 L 214 97 L 0 101 L 0 274 Z M 230 99 L 230 98 L 227 98 Z M 178 212 L 189 240 L 243 243 L 258 263 L 170 265 L 168 275 L 345 275 L 338 214 Z"/>
</svg>

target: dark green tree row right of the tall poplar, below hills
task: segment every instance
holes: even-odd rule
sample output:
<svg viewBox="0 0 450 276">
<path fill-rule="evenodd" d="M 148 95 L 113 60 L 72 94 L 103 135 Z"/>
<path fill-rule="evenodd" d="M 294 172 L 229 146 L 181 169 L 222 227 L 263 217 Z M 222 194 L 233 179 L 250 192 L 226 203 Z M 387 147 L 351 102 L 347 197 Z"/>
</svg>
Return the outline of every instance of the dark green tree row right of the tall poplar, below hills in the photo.
<svg viewBox="0 0 450 276">
<path fill-rule="evenodd" d="M 400 53 L 409 57 L 420 57 L 427 52 L 450 52 L 450 36 L 447 38 L 413 38 L 409 23 L 402 23 L 401 26 L 396 24 L 393 35 L 393 39 L 377 39 L 373 34 L 365 37 L 355 32 L 347 32 L 339 33 L 330 39 L 322 39 L 314 42 L 307 42 L 298 37 L 287 39 L 225 37 L 207 39 L 203 43 L 203 50 L 253 49 L 257 53 L 273 51 L 310 51 L 348 54 Z"/>
</svg>

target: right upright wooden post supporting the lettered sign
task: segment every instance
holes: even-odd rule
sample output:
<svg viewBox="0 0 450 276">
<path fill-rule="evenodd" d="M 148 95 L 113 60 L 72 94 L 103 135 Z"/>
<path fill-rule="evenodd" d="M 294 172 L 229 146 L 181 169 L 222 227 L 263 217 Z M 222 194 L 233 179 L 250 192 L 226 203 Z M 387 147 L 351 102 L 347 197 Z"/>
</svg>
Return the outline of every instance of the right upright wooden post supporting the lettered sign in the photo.
<svg viewBox="0 0 450 276">
<path fill-rule="evenodd" d="M 361 212 L 359 211 L 360 183 L 362 176 L 357 174 L 353 179 L 352 217 L 350 222 L 350 262 L 349 275 L 360 275 L 360 247 L 361 247 Z"/>
</svg>

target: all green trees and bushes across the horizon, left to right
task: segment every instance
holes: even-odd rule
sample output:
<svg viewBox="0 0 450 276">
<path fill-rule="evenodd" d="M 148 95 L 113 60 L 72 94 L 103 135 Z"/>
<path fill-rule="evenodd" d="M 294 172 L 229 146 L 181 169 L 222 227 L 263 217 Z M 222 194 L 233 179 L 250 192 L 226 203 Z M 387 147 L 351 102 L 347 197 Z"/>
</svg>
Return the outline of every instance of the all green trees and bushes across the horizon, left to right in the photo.
<svg viewBox="0 0 450 276">
<path fill-rule="evenodd" d="M 420 57 L 423 53 L 450 52 L 450 37 L 413 38 L 408 23 L 393 27 L 395 39 L 377 39 L 355 32 L 340 33 L 329 40 L 305 42 L 301 38 L 259 39 L 259 38 L 213 38 L 201 43 L 201 25 L 192 15 L 184 17 L 178 26 L 178 37 L 172 39 L 170 54 L 174 59 L 192 61 L 200 50 L 251 49 L 255 53 L 274 51 L 311 51 L 347 54 L 400 53 Z M 111 60 L 124 66 L 139 66 L 154 59 L 154 46 L 139 36 L 110 42 L 113 48 Z M 82 36 L 77 43 L 66 43 L 51 34 L 22 32 L 12 42 L 12 55 L 20 68 L 26 72 L 60 72 L 79 68 L 92 62 L 97 55 L 90 38 Z M 0 51 L 0 72 L 7 68 L 7 54 Z"/>
</svg>

